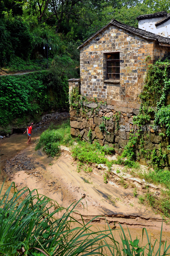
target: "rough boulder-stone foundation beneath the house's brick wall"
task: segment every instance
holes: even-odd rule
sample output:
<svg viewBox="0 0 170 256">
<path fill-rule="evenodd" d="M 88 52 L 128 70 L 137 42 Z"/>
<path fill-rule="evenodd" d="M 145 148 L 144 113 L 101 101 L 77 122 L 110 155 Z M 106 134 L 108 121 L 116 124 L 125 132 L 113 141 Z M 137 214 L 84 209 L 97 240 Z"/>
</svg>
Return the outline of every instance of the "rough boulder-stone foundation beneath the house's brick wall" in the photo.
<svg viewBox="0 0 170 256">
<path fill-rule="evenodd" d="M 139 114 L 139 104 L 122 102 L 125 107 L 119 103 L 112 101 L 112 104 L 101 105 L 99 103 L 87 103 L 83 102 L 83 107 L 80 109 L 73 109 L 70 107 L 70 125 L 71 135 L 73 137 L 80 136 L 82 140 L 89 141 L 88 133 L 91 129 L 92 142 L 98 140 L 103 145 L 114 147 L 115 152 L 121 154 L 125 145 L 128 143 L 130 131 L 136 132 L 139 127 L 133 125 L 133 117 Z M 118 106 L 119 105 L 119 106 Z M 131 108 L 134 107 L 135 108 Z M 137 109 L 137 108 L 138 109 Z M 116 115 L 119 116 L 116 120 Z M 99 125 L 104 122 L 106 131 L 102 132 Z M 152 122 L 152 121 L 151 121 Z M 142 148 L 153 150 L 155 148 L 158 155 L 160 143 L 163 145 L 162 151 L 167 153 L 166 165 L 170 165 L 169 150 L 166 149 L 168 141 L 158 134 L 163 132 L 160 127 L 156 127 L 155 131 L 151 128 L 151 124 L 142 127 L 143 144 L 139 142 L 134 146 L 136 159 L 141 164 L 147 164 L 149 160 L 146 160 L 142 154 Z M 114 145 L 113 145 L 114 144 Z"/>
</svg>

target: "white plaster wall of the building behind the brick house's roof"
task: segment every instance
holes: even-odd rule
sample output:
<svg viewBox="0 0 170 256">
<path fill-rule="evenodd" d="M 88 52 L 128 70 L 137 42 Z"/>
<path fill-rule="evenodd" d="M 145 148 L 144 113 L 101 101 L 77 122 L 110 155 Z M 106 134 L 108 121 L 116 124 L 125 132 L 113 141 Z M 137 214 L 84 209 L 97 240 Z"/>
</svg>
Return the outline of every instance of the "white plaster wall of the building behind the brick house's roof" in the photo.
<svg viewBox="0 0 170 256">
<path fill-rule="evenodd" d="M 167 20 L 159 26 L 155 26 L 155 23 L 163 20 L 164 17 L 152 18 L 146 20 L 139 20 L 138 27 L 149 31 L 151 33 L 157 34 L 159 36 L 169 37 L 170 38 L 170 20 Z"/>
</svg>

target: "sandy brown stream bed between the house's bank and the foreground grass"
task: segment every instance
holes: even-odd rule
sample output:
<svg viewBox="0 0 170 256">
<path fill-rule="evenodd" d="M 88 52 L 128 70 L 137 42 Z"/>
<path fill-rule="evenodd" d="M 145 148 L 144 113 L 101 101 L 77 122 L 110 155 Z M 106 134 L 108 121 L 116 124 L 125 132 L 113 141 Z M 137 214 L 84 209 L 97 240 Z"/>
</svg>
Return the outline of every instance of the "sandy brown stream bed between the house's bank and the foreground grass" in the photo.
<svg viewBox="0 0 170 256">
<path fill-rule="evenodd" d="M 57 122 L 62 122 L 65 118 L 68 117 L 63 116 Z M 43 128 L 35 129 L 33 139 L 47 129 L 47 126 L 44 124 Z M 80 219 L 80 213 L 85 221 L 100 215 L 94 220 L 95 225 L 104 225 L 106 219 L 113 226 L 118 223 L 124 227 L 128 225 L 130 229 L 138 230 L 135 232 L 140 235 L 143 227 L 147 227 L 154 237 L 160 234 L 162 217 L 151 208 L 139 204 L 133 195 L 133 188 L 124 189 L 112 181 L 104 184 L 101 170 L 95 167 L 91 173 L 78 173 L 77 163 L 65 147 L 61 148 L 58 158 L 52 158 L 42 150 L 35 151 L 35 142 L 27 145 L 26 141 L 23 134 L 13 134 L 0 141 L 0 155 L 3 154 L 0 181 L 2 185 L 6 176 L 4 189 L 14 181 L 17 189 L 36 188 L 40 194 L 49 196 L 65 207 L 85 196 L 77 206 L 77 219 Z M 165 222 L 163 232 L 165 239 L 170 242 L 170 226 Z"/>
</svg>

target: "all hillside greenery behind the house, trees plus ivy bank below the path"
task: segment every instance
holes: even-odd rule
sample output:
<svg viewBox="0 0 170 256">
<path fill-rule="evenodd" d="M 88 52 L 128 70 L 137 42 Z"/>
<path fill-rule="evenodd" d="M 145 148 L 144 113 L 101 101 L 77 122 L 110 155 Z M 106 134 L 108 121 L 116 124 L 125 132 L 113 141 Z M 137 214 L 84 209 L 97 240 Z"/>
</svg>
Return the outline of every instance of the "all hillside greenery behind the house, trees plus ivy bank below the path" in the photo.
<svg viewBox="0 0 170 256">
<path fill-rule="evenodd" d="M 48 54 L 50 72 L 0 79 L 0 125 L 65 106 L 67 79 L 79 77 L 77 46 L 112 18 L 137 27 L 136 16 L 169 10 L 165 0 L 1 0 L 1 70 L 44 70 Z"/>
</svg>

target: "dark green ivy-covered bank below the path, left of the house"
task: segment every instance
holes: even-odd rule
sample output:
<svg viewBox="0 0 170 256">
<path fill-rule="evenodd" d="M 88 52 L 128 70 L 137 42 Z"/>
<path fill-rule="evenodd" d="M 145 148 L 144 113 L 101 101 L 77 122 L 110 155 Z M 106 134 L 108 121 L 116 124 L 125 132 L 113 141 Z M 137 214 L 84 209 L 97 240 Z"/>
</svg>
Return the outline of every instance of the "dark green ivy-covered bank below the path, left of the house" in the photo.
<svg viewBox="0 0 170 256">
<path fill-rule="evenodd" d="M 52 76 L 54 73 L 50 76 L 51 72 L 0 79 L 0 126 L 15 122 L 16 126 L 23 127 L 30 119 L 36 122 L 45 111 L 67 106 L 68 87 L 64 77 L 60 79 L 60 86 Z"/>
</svg>

